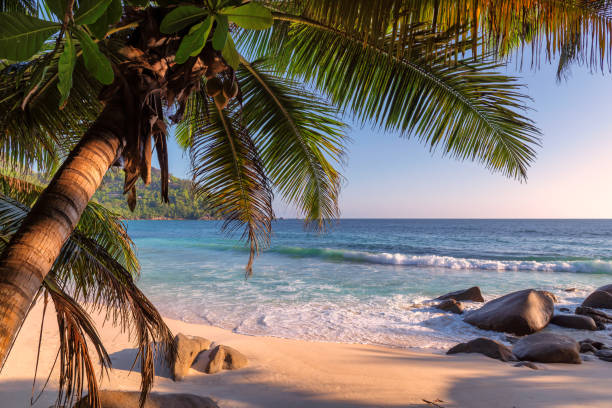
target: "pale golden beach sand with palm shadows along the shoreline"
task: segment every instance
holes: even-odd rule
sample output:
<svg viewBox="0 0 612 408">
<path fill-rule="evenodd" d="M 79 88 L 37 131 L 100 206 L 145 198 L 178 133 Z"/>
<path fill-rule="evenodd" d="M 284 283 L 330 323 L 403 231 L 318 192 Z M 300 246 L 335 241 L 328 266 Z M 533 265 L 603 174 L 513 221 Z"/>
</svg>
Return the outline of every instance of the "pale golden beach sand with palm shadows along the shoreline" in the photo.
<svg viewBox="0 0 612 408">
<path fill-rule="evenodd" d="M 28 407 L 42 307 L 26 321 L 0 374 L 0 407 Z M 54 316 L 48 313 L 41 354 L 40 382 L 57 351 Z M 137 390 L 138 372 L 129 373 L 133 345 L 108 324 L 98 328 L 114 369 L 103 389 Z M 230 407 L 612 407 L 612 363 L 547 364 L 535 371 L 479 355 L 444 356 L 359 344 L 314 343 L 244 336 L 216 327 L 167 320 L 174 333 L 206 337 L 243 352 L 249 366 L 208 375 L 191 369 L 175 383 L 164 373 L 154 391 L 210 396 Z M 612 342 L 612 339 L 611 339 Z M 55 400 L 57 383 L 35 405 Z"/>
</svg>

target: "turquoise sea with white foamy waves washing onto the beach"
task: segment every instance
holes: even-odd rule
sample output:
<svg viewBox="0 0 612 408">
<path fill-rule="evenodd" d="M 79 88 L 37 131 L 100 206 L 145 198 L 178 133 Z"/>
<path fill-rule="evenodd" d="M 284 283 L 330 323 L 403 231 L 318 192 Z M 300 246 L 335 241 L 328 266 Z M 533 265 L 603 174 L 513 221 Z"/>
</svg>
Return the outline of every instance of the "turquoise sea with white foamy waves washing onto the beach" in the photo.
<svg viewBox="0 0 612 408">
<path fill-rule="evenodd" d="M 432 297 L 474 285 L 486 299 L 539 288 L 572 309 L 612 283 L 612 220 L 341 220 L 325 234 L 282 220 L 273 228 L 245 280 L 248 251 L 218 222 L 130 221 L 139 285 L 167 316 L 238 333 L 444 349 L 503 336 L 439 313 Z"/>
</svg>

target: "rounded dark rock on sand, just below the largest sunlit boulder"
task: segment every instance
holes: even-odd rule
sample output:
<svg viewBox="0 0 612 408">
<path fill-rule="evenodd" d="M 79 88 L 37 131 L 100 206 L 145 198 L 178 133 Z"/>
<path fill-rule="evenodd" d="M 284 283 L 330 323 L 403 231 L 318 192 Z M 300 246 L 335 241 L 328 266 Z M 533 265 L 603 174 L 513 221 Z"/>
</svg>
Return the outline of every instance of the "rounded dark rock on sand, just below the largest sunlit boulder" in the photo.
<svg viewBox="0 0 612 408">
<path fill-rule="evenodd" d="M 571 337 L 555 333 L 536 333 L 520 339 L 512 349 L 520 360 L 539 363 L 580 364 L 580 345 Z"/>
</svg>

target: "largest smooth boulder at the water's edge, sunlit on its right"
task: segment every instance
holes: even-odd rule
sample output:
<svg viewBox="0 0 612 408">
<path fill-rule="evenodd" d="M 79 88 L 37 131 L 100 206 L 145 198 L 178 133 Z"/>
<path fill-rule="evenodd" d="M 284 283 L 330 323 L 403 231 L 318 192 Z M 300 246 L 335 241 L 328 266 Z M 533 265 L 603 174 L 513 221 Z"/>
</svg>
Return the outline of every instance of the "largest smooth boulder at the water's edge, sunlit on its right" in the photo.
<svg viewBox="0 0 612 408">
<path fill-rule="evenodd" d="M 544 328 L 553 311 L 550 297 L 526 289 L 491 300 L 480 309 L 468 313 L 464 320 L 481 329 L 521 336 Z"/>
</svg>

